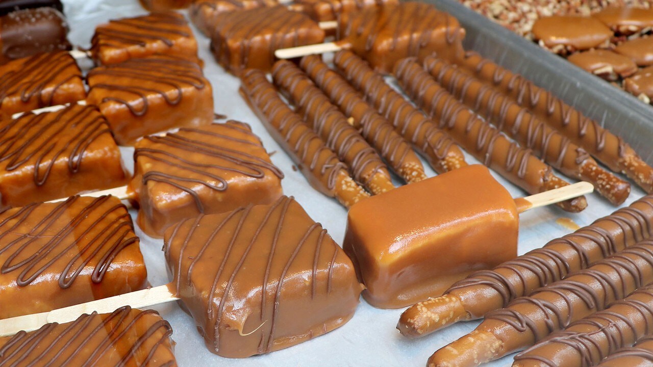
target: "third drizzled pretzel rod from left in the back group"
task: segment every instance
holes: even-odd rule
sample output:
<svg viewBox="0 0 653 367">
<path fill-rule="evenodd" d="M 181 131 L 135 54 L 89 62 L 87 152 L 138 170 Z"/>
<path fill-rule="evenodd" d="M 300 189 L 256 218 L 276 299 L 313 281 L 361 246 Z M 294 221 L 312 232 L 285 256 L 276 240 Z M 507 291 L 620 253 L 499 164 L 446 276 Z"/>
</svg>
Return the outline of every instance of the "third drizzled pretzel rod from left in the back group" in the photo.
<svg viewBox="0 0 653 367">
<path fill-rule="evenodd" d="M 413 148 L 394 131 L 388 120 L 363 101 L 356 89 L 329 69 L 321 57 L 305 56 L 299 65 L 332 103 L 337 104 L 346 116 L 353 118 L 354 127 L 407 183 L 426 178 L 422 162 Z"/>
</svg>

